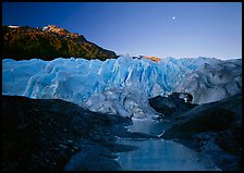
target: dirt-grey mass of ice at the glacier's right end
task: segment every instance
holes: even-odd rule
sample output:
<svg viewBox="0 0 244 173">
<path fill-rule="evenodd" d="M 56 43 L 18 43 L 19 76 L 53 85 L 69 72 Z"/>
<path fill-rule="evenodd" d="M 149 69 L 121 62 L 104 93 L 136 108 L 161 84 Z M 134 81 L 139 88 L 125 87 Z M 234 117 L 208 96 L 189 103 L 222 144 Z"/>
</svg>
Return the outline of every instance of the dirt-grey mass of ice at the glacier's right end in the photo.
<svg viewBox="0 0 244 173">
<path fill-rule="evenodd" d="M 204 63 L 181 81 L 175 91 L 191 92 L 193 103 L 208 103 L 241 94 L 242 62 Z"/>
</svg>

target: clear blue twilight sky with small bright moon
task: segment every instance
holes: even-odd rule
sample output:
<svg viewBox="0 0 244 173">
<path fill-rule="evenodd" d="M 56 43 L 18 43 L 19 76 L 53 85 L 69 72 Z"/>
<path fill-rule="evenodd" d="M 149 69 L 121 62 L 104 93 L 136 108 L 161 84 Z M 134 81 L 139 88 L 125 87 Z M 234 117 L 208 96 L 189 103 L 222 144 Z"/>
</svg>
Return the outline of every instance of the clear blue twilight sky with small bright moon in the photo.
<svg viewBox="0 0 244 173">
<path fill-rule="evenodd" d="M 2 23 L 53 24 L 117 53 L 242 58 L 242 2 L 2 2 Z"/>
</svg>

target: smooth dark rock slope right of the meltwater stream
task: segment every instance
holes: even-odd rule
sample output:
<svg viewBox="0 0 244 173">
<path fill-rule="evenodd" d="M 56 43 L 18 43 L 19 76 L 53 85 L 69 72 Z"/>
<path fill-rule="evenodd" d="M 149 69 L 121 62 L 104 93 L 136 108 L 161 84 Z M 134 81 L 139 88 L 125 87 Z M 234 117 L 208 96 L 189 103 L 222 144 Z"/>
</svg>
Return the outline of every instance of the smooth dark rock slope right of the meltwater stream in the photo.
<svg viewBox="0 0 244 173">
<path fill-rule="evenodd" d="M 242 96 L 197 106 L 174 116 L 162 135 L 209 155 L 224 171 L 241 170 Z"/>
</svg>

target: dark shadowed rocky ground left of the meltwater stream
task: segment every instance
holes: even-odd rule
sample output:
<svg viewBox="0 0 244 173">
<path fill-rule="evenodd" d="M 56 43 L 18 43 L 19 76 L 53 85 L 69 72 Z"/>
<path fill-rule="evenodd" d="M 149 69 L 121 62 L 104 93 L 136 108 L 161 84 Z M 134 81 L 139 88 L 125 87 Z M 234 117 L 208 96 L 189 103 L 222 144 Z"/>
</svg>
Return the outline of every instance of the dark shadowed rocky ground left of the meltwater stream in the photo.
<svg viewBox="0 0 244 173">
<path fill-rule="evenodd" d="M 129 124 L 63 100 L 2 96 L 2 170 L 120 170 L 115 152 L 135 147 L 115 144 L 115 136 L 151 137 L 126 132 Z"/>
</svg>

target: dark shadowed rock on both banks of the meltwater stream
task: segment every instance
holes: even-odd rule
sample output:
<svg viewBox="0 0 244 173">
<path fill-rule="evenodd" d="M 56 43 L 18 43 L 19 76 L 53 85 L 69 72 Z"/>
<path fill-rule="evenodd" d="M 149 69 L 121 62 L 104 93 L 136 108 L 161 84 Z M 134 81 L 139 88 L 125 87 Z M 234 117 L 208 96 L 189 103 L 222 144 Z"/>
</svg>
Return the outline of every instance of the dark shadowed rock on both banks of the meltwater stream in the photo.
<svg viewBox="0 0 244 173">
<path fill-rule="evenodd" d="M 178 96 L 149 101 L 174 123 L 161 137 L 210 157 L 223 171 L 241 171 L 242 96 L 200 106 Z M 117 136 L 157 138 L 127 132 L 131 123 L 59 99 L 2 96 L 2 170 L 121 170 L 115 153 L 136 147 L 117 144 Z"/>
</svg>

